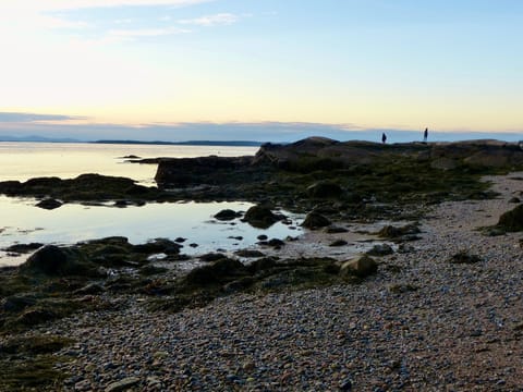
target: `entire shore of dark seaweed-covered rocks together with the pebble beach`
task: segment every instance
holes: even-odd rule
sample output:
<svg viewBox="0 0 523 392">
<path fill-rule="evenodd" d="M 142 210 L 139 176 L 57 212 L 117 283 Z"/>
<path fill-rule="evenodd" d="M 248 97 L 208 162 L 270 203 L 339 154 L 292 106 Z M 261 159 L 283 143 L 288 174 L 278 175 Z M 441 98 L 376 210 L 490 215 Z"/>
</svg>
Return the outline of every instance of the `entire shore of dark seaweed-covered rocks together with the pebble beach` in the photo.
<svg viewBox="0 0 523 392">
<path fill-rule="evenodd" d="M 197 257 L 182 237 L 15 245 L 33 254 L 0 271 L 0 389 L 523 388 L 518 144 L 314 137 L 254 157 L 134 161 L 158 164 L 157 186 L 84 174 L 0 193 L 48 209 L 246 200 L 219 219 L 270 226 L 284 208 L 308 232 Z M 360 255 L 356 231 L 372 245 Z"/>
</svg>

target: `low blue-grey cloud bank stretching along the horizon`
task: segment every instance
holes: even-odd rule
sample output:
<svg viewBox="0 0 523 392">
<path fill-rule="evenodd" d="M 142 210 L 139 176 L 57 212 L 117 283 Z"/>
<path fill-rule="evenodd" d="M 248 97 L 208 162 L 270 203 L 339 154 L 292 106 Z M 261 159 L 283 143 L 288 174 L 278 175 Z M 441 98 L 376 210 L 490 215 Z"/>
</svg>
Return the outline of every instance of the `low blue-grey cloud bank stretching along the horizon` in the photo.
<svg viewBox="0 0 523 392">
<path fill-rule="evenodd" d="M 355 124 L 325 124 L 305 122 L 186 122 L 151 123 L 141 125 L 87 123 L 88 119 L 61 115 L 0 112 L 0 137 L 40 136 L 60 139 L 94 142 L 100 139 L 142 142 L 187 140 L 251 140 L 289 143 L 311 136 L 329 137 L 337 140 L 361 139 L 379 142 L 381 133 L 390 143 L 419 140 L 422 130 L 364 128 Z M 72 123 L 73 122 L 73 123 Z M 431 140 L 462 140 L 471 138 L 499 138 L 516 142 L 523 138 L 515 132 L 434 132 Z"/>
</svg>

